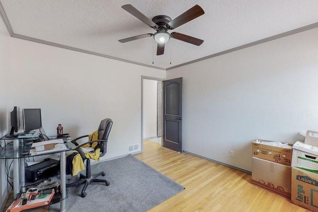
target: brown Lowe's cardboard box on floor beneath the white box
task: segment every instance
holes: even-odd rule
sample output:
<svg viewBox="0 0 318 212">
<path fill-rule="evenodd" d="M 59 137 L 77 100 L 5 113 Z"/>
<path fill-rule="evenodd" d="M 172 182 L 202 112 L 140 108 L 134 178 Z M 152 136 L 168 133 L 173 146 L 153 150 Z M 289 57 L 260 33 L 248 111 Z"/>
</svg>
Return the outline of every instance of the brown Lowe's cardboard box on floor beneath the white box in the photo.
<svg viewBox="0 0 318 212">
<path fill-rule="evenodd" d="M 291 202 L 318 212 L 318 174 L 292 167 Z"/>
</svg>

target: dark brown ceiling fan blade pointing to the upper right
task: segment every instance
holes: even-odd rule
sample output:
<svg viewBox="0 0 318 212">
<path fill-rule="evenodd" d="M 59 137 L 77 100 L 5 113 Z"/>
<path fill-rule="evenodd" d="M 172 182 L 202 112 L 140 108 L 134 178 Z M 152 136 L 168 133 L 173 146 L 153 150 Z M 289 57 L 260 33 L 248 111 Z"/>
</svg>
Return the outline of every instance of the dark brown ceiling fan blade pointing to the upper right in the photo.
<svg viewBox="0 0 318 212">
<path fill-rule="evenodd" d="M 182 24 L 185 24 L 186 22 L 189 22 L 190 20 L 193 20 L 194 18 L 197 18 L 203 14 L 204 14 L 204 11 L 201 8 L 201 6 L 196 4 L 192 8 L 190 8 L 189 10 L 183 12 L 181 15 L 179 15 L 178 17 L 171 20 L 167 24 L 167 27 L 170 29 L 175 29 L 178 26 L 181 26 Z"/>
</svg>

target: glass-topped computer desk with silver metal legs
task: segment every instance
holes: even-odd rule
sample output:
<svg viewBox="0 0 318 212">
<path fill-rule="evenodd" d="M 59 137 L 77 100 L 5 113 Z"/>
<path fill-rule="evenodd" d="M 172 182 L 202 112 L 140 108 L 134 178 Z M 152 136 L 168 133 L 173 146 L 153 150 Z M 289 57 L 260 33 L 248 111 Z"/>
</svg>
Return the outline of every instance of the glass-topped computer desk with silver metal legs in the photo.
<svg viewBox="0 0 318 212">
<path fill-rule="evenodd" d="M 27 154 L 31 149 L 32 141 L 24 141 L 24 139 L 3 136 L 0 138 L 0 159 L 13 159 L 13 196 L 14 198 L 20 192 L 25 192 L 25 166 L 24 159 L 26 157 L 36 157 L 52 153 L 60 153 L 60 190 L 61 190 L 61 212 L 65 212 L 66 204 L 66 157 L 65 152 L 72 150 L 72 143 L 64 143 L 67 148 L 55 149 L 50 152 L 37 153 L 36 155 Z"/>
</svg>

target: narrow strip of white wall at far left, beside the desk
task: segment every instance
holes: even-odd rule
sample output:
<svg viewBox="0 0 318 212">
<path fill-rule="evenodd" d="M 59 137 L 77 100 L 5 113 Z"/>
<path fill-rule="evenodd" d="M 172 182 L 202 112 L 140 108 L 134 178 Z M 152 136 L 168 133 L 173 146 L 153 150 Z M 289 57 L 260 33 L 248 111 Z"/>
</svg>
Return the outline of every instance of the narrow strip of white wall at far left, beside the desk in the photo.
<svg viewBox="0 0 318 212">
<path fill-rule="evenodd" d="M 8 73 L 10 71 L 10 37 L 3 24 L 0 21 L 0 137 L 8 132 L 8 101 L 9 101 L 9 89 L 8 89 Z M 13 109 L 13 108 L 12 108 Z M 0 141 L 1 146 L 4 145 L 4 141 Z M 8 161 L 10 162 L 10 161 Z M 5 160 L 0 160 L 0 211 L 2 211 L 7 195 L 8 184 L 5 175 Z"/>
</svg>

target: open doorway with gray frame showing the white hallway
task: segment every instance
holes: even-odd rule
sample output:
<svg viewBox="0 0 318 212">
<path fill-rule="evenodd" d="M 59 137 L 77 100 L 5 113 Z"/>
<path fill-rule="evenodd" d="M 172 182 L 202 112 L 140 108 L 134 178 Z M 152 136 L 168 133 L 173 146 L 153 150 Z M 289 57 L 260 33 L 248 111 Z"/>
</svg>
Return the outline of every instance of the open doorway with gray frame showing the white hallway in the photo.
<svg viewBox="0 0 318 212">
<path fill-rule="evenodd" d="M 162 142 L 162 80 L 142 76 L 142 151 L 144 140 L 156 142 L 160 145 Z"/>
</svg>

